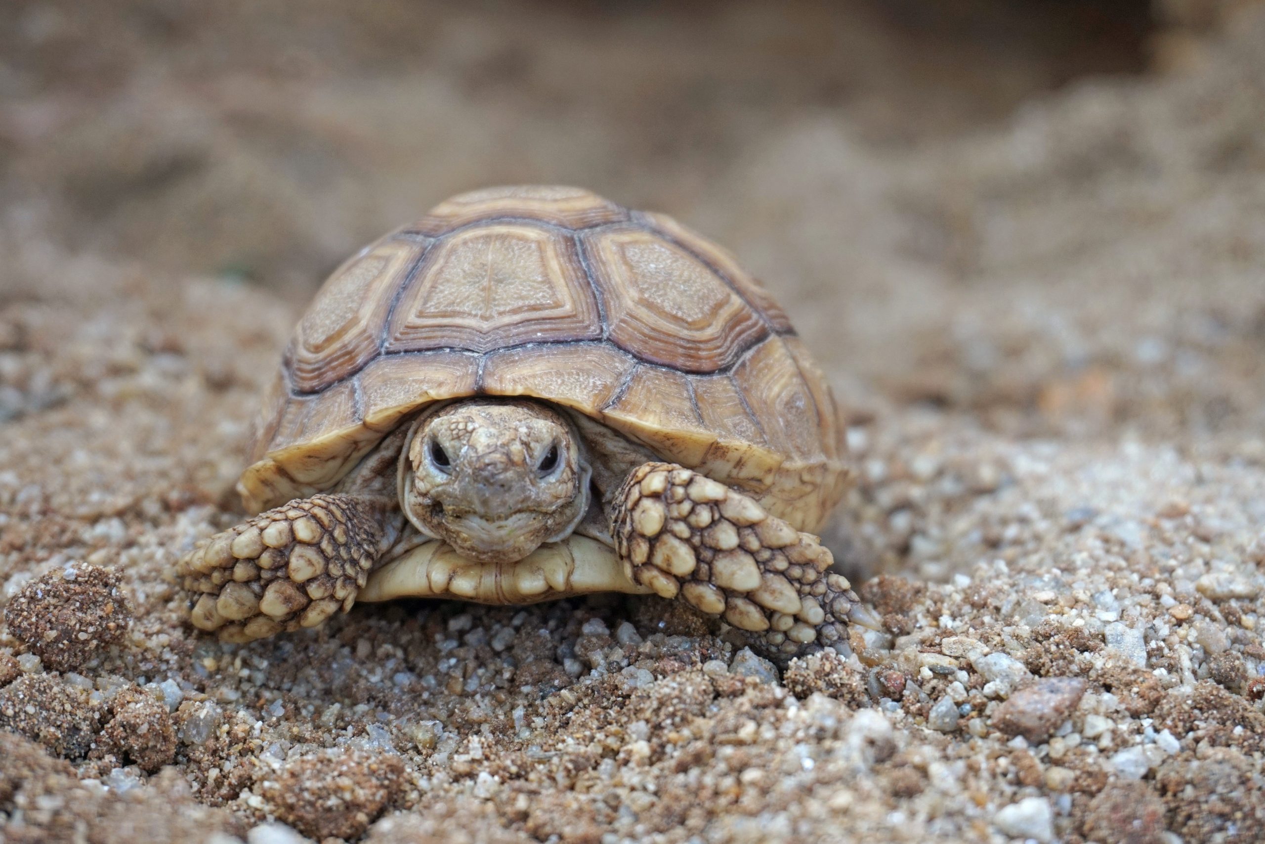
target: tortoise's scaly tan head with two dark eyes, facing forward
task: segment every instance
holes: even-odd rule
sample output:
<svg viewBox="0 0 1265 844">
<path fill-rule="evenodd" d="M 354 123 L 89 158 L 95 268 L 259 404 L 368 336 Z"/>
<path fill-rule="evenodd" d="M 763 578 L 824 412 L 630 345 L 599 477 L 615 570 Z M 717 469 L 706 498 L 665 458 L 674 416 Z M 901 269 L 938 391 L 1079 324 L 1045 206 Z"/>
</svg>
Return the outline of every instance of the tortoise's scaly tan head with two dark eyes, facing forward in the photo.
<svg viewBox="0 0 1265 844">
<path fill-rule="evenodd" d="M 543 404 L 468 399 L 414 425 L 400 504 L 416 528 L 478 562 L 522 559 L 588 509 L 579 434 Z"/>
</svg>

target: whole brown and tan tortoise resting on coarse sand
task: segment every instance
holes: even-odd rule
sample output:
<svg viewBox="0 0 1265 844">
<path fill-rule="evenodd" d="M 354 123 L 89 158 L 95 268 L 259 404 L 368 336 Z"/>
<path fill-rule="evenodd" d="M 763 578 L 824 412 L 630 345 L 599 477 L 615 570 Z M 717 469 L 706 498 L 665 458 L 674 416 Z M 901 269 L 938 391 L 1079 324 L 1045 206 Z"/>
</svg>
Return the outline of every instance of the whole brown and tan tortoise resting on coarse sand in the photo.
<svg viewBox="0 0 1265 844">
<path fill-rule="evenodd" d="M 850 478 L 826 380 L 724 249 L 572 187 L 454 196 L 293 332 L 238 490 L 178 562 L 228 642 L 355 601 L 657 593 L 765 653 L 839 642 L 820 530 Z"/>
</svg>

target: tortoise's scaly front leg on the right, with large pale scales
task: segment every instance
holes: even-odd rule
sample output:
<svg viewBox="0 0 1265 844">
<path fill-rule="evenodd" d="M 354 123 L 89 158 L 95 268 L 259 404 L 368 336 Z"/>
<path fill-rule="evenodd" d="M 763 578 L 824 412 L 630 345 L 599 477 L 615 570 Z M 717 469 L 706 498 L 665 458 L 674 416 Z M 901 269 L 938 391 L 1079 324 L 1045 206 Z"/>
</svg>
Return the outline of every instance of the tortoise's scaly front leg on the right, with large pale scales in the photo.
<svg viewBox="0 0 1265 844">
<path fill-rule="evenodd" d="M 782 658 L 842 639 L 859 602 L 848 578 L 827 573 L 834 558 L 820 539 L 673 463 L 629 473 L 611 535 L 638 583 L 720 615 Z"/>
</svg>

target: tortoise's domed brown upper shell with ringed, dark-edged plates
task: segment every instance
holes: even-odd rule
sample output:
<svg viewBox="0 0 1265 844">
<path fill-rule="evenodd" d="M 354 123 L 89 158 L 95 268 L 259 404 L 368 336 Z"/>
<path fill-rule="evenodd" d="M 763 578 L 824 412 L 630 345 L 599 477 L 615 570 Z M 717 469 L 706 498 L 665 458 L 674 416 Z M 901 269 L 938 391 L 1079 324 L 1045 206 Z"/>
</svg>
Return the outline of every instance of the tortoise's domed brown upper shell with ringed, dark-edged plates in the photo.
<svg viewBox="0 0 1265 844">
<path fill-rule="evenodd" d="M 830 387 L 732 256 L 588 191 L 498 187 L 334 271 L 266 399 L 243 500 L 328 490 L 405 416 L 468 396 L 574 409 L 799 530 L 842 493 Z"/>
</svg>

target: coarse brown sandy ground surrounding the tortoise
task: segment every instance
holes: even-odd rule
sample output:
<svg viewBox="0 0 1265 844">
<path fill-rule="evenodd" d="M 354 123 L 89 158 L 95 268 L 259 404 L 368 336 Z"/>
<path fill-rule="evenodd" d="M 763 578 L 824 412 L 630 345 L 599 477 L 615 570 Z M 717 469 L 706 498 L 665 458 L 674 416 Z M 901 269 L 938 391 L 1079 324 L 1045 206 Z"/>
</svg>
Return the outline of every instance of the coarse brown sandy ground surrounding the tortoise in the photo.
<svg viewBox="0 0 1265 844">
<path fill-rule="evenodd" d="M 0 27 L 5 844 L 1265 838 L 1260 14 L 1094 76 L 1137 65 L 1004 16 L 988 72 L 870 8 L 114 10 Z M 314 280 L 505 180 L 768 280 L 884 630 L 775 671 L 650 599 L 185 625 Z"/>
</svg>

